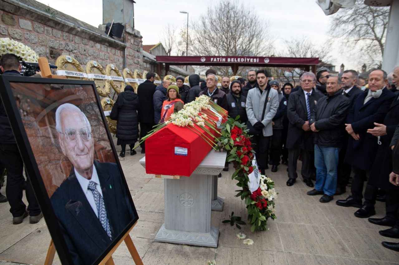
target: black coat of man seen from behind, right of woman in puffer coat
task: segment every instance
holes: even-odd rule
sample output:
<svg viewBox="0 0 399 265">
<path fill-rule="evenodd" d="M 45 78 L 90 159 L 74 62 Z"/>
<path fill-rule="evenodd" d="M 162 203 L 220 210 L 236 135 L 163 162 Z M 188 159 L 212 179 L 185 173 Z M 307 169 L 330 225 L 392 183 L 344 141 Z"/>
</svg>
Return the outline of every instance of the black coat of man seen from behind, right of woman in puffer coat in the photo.
<svg viewBox="0 0 399 265">
<path fill-rule="evenodd" d="M 138 120 L 140 123 L 154 123 L 154 96 L 156 85 L 149 80 L 138 85 L 137 95 L 140 98 Z"/>
</svg>

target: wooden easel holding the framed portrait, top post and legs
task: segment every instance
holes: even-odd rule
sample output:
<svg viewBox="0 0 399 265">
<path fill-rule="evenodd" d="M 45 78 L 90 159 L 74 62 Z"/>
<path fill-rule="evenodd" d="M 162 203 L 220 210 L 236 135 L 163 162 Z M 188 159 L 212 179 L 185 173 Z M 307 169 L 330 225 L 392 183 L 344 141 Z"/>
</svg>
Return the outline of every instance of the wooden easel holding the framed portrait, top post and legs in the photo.
<svg viewBox="0 0 399 265">
<path fill-rule="evenodd" d="M 40 67 L 40 74 L 43 78 L 57 78 L 57 79 L 66 79 L 66 76 L 57 76 L 54 74 L 51 74 L 51 70 L 49 67 L 49 61 L 45 57 L 40 57 L 38 60 L 39 67 Z M 129 233 L 132 231 L 133 227 L 137 224 L 135 222 L 132 227 L 129 228 L 129 230 L 120 238 L 117 244 L 107 253 L 107 255 L 104 257 L 104 259 L 99 263 L 99 265 L 115 265 L 114 260 L 112 259 L 112 254 L 117 250 L 119 245 L 122 243 L 122 241 L 125 242 L 127 248 L 129 249 L 130 255 L 132 255 L 133 261 L 136 265 L 143 265 L 143 262 L 141 261 L 140 255 L 138 255 L 137 249 L 133 244 L 132 238 L 130 237 Z M 46 259 L 44 261 L 44 265 L 51 265 L 53 264 L 55 256 L 55 246 L 54 242 L 51 239 L 50 240 L 50 246 L 49 249 L 47 250 L 47 255 Z"/>
</svg>

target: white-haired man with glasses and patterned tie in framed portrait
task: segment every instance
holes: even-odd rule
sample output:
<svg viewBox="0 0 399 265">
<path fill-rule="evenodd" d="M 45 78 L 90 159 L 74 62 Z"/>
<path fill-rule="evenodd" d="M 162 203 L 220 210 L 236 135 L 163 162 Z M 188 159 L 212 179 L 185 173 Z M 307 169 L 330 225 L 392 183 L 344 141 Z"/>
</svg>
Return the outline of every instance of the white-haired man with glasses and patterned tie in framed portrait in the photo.
<svg viewBox="0 0 399 265">
<path fill-rule="evenodd" d="M 94 139 L 85 114 L 65 103 L 55 112 L 62 153 L 73 168 L 51 196 L 74 264 L 92 264 L 134 220 L 132 204 L 114 163 L 94 160 Z"/>
</svg>

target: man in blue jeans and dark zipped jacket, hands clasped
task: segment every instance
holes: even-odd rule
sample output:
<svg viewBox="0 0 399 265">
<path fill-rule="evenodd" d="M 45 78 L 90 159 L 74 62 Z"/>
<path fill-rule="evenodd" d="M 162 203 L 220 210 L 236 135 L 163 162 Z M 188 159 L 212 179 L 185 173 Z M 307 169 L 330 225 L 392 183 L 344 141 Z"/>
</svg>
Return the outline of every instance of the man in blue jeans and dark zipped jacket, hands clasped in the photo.
<svg viewBox="0 0 399 265">
<path fill-rule="evenodd" d="M 321 203 L 334 198 L 337 187 L 338 154 L 344 147 L 345 119 L 349 99 L 342 95 L 338 76 L 330 76 L 326 83 L 327 96 L 319 99 L 310 116 L 314 133 L 314 165 L 316 185 L 308 195 L 323 195 Z"/>
</svg>

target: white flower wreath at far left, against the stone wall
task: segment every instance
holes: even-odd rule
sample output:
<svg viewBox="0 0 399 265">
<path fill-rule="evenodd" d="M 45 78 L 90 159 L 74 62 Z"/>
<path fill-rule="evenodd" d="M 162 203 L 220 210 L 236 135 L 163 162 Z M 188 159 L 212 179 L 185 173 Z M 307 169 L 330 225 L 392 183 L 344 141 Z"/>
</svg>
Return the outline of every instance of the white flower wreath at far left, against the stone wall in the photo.
<svg viewBox="0 0 399 265">
<path fill-rule="evenodd" d="M 30 47 L 9 38 L 0 38 L 0 56 L 13 53 L 26 62 L 38 62 L 38 55 Z"/>
</svg>

